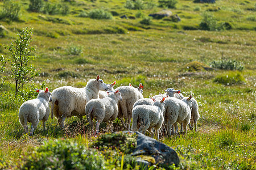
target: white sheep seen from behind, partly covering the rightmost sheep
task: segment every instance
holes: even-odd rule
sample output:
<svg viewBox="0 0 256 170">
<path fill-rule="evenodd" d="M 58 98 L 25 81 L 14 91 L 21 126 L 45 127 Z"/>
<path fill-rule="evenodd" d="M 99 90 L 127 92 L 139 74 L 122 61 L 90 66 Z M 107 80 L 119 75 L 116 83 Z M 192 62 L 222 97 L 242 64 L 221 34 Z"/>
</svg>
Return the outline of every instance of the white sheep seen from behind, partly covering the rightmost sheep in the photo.
<svg viewBox="0 0 256 170">
<path fill-rule="evenodd" d="M 170 97 L 166 99 L 164 106 L 164 123 L 167 125 L 167 133 L 171 135 L 171 125 L 174 124 L 175 132 L 177 134 L 177 122 L 182 123 L 185 133 L 187 133 L 187 125 L 191 118 L 191 99 L 192 96 L 184 97 L 182 100 Z M 173 129 L 174 130 L 174 129 Z"/>
</svg>

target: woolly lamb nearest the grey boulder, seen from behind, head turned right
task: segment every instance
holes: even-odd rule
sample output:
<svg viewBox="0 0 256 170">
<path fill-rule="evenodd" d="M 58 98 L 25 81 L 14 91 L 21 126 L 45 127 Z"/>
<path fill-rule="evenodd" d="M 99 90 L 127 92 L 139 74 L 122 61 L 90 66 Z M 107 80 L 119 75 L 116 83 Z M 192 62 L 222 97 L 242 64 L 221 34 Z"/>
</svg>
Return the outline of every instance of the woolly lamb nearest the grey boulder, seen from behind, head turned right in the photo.
<svg viewBox="0 0 256 170">
<path fill-rule="evenodd" d="M 137 105 L 133 109 L 133 125 L 132 130 L 145 133 L 146 130 L 150 131 L 151 138 L 154 138 L 152 128 L 155 129 L 156 138 L 159 140 L 159 129 L 161 128 L 164 117 L 164 100 L 157 100 L 153 105 Z"/>
</svg>

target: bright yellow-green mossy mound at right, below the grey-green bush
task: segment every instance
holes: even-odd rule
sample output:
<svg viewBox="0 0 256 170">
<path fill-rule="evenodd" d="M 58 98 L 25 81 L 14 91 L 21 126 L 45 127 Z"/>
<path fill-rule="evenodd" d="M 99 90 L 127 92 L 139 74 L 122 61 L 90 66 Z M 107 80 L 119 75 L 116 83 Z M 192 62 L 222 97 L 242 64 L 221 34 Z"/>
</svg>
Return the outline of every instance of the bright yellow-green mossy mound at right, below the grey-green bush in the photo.
<svg viewBox="0 0 256 170">
<path fill-rule="evenodd" d="M 240 72 L 230 71 L 229 73 L 217 75 L 214 78 L 213 82 L 225 84 L 225 85 L 232 85 L 232 84 L 242 84 L 245 82 L 245 78 L 243 78 Z"/>
</svg>

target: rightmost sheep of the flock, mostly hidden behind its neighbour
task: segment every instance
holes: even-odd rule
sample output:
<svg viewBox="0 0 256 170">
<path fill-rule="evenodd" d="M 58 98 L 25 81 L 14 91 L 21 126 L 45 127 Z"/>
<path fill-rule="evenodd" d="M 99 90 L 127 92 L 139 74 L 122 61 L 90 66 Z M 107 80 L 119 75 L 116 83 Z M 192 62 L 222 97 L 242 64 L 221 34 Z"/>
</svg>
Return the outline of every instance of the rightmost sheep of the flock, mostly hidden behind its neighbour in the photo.
<svg viewBox="0 0 256 170">
<path fill-rule="evenodd" d="M 184 96 L 179 94 L 180 98 L 183 99 Z M 197 131 L 197 120 L 200 118 L 198 103 L 194 97 L 191 99 L 192 109 L 191 109 L 191 120 L 189 123 L 189 128 L 193 130 L 193 126 L 195 124 L 195 131 Z"/>
</svg>

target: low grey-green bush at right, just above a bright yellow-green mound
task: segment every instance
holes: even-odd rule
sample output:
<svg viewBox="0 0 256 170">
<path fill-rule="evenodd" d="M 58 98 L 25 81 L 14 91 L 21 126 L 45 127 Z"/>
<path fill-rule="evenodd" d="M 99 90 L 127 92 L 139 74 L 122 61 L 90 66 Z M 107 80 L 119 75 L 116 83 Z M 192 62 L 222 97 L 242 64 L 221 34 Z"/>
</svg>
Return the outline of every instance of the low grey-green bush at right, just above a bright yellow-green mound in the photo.
<svg viewBox="0 0 256 170">
<path fill-rule="evenodd" d="M 244 69 L 243 64 L 240 61 L 236 61 L 236 59 L 226 59 L 222 58 L 221 60 L 216 60 L 210 62 L 210 66 L 216 69 L 221 70 L 238 70 L 242 71 Z"/>
</svg>

